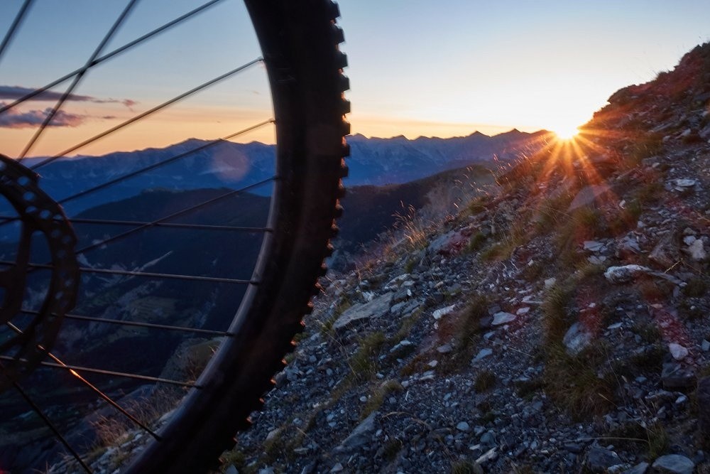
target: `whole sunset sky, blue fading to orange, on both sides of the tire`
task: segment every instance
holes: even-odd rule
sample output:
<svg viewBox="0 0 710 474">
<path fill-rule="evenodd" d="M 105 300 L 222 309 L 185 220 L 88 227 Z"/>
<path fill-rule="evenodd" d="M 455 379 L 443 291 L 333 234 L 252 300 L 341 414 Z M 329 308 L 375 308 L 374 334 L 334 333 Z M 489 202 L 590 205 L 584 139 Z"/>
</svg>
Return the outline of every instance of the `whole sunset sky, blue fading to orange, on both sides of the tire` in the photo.
<svg viewBox="0 0 710 474">
<path fill-rule="evenodd" d="M 0 35 L 21 0 L 0 2 Z M 0 58 L 0 102 L 80 67 L 126 2 L 35 0 Z M 107 52 L 202 4 L 141 0 Z M 561 130 L 589 120 L 616 90 L 670 70 L 710 40 L 710 1 L 341 0 L 353 133 L 461 136 Z M 187 26 L 90 70 L 30 155 L 72 143 L 145 112 L 261 53 L 244 6 L 225 0 Z M 66 87 L 65 83 L 65 87 Z M 61 94 L 62 89 L 52 92 Z M 17 156 L 47 95 L 0 114 L 0 153 Z M 214 139 L 271 117 L 260 64 L 206 92 L 70 154 Z M 271 126 L 239 141 L 273 141 Z"/>
</svg>

